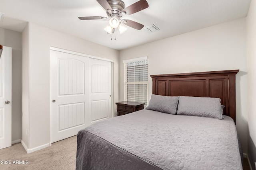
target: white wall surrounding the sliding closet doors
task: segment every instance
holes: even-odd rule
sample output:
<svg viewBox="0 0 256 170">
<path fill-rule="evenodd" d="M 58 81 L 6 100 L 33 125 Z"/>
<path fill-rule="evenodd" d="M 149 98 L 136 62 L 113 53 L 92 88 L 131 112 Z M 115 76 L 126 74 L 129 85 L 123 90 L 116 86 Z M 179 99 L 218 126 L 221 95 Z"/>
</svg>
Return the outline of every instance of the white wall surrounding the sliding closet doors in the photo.
<svg viewBox="0 0 256 170">
<path fill-rule="evenodd" d="M 29 75 L 24 76 L 29 76 L 29 98 L 25 105 L 29 107 L 28 149 L 33 150 L 50 142 L 50 47 L 114 60 L 114 102 L 118 102 L 119 51 L 34 23 L 28 25 L 29 46 L 24 57 L 29 59 Z"/>
</svg>

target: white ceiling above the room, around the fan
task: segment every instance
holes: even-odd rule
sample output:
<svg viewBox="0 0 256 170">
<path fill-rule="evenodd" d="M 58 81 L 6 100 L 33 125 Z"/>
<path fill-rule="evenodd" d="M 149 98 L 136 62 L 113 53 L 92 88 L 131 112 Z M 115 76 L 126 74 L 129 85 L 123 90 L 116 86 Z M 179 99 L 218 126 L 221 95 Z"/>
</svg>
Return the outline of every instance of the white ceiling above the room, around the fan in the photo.
<svg viewBox="0 0 256 170">
<path fill-rule="evenodd" d="M 123 0 L 129 6 L 138 0 Z M 0 0 L 4 20 L 0 27 L 21 32 L 27 21 L 92 41 L 113 49 L 172 37 L 247 16 L 251 0 L 147 0 L 149 7 L 126 16 L 160 31 L 146 33 L 130 27 L 110 40 L 106 20 L 79 20 L 80 16 L 106 16 L 96 0 Z"/>
</svg>

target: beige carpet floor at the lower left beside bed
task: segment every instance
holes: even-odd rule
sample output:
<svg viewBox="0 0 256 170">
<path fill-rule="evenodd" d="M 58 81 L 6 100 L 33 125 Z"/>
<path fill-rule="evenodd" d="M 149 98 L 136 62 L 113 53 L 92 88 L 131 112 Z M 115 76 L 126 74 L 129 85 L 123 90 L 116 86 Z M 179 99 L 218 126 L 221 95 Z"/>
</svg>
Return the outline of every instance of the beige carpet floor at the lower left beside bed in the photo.
<svg viewBox="0 0 256 170">
<path fill-rule="evenodd" d="M 24 164 L 1 164 L 4 160 L 23 160 Z M 28 161 L 28 164 L 26 163 Z M 0 149 L 0 170 L 75 170 L 76 136 L 53 143 L 36 152 L 27 154 L 21 143 Z"/>
</svg>

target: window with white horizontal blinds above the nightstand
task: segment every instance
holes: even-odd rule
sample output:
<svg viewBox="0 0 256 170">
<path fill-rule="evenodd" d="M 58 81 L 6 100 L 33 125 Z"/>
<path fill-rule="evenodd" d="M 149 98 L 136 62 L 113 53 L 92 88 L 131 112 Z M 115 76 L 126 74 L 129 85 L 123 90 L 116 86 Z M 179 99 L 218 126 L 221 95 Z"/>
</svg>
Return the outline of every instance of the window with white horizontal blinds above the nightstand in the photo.
<svg viewBox="0 0 256 170">
<path fill-rule="evenodd" d="M 124 100 L 148 105 L 148 57 L 125 60 Z"/>
</svg>

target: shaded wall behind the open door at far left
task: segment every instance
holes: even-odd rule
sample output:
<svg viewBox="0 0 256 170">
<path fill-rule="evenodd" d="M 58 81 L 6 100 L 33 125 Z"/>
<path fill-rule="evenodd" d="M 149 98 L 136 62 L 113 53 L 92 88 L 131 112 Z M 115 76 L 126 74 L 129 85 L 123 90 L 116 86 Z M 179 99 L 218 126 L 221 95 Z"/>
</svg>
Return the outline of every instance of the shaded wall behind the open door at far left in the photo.
<svg viewBox="0 0 256 170">
<path fill-rule="evenodd" d="M 12 47 L 12 141 L 21 135 L 21 33 L 0 28 L 0 44 Z"/>
</svg>

